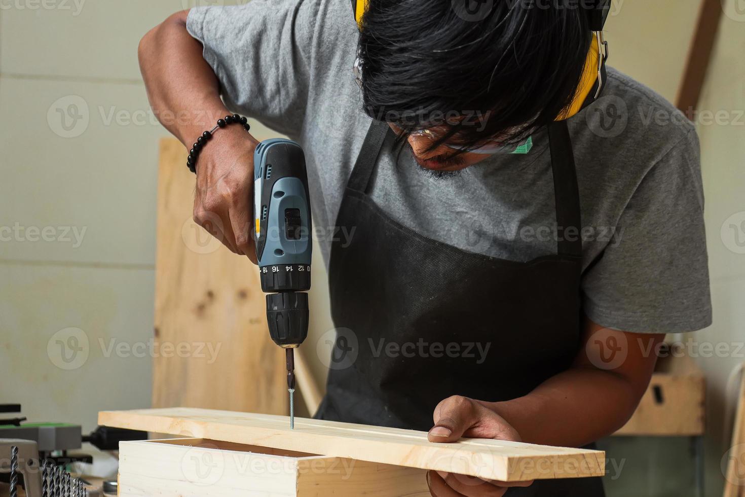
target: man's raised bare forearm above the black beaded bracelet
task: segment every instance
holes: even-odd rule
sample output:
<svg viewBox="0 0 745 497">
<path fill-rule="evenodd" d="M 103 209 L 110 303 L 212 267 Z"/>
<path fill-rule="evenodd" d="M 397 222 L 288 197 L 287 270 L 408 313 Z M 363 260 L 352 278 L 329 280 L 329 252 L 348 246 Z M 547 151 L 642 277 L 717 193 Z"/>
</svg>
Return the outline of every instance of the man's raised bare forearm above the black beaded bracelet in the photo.
<svg viewBox="0 0 745 497">
<path fill-rule="evenodd" d="M 139 44 L 139 63 L 153 112 L 180 141 L 191 144 L 227 109 L 203 47 L 186 31 L 186 10 L 153 28 Z"/>
</svg>

